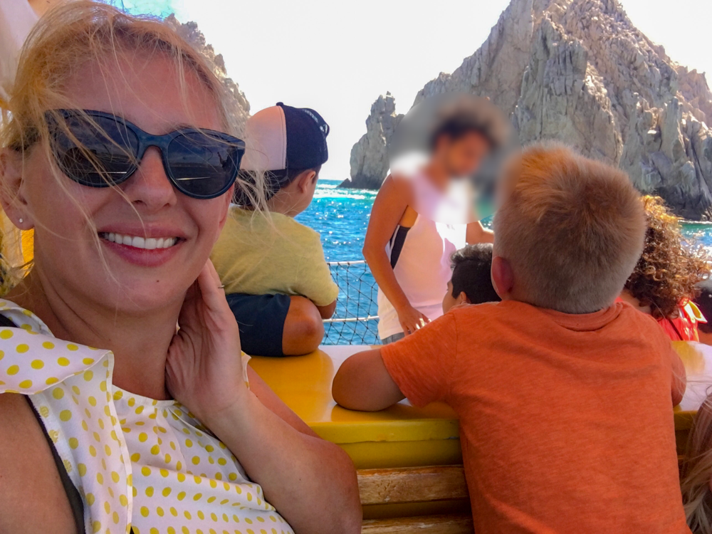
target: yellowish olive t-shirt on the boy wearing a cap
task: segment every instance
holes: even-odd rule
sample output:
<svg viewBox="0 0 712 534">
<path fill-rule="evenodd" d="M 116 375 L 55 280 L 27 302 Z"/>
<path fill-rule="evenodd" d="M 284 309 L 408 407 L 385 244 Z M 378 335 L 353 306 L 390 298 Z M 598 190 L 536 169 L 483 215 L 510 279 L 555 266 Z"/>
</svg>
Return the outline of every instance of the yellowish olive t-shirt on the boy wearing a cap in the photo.
<svg viewBox="0 0 712 534">
<path fill-rule="evenodd" d="M 210 258 L 226 293 L 302 295 L 318 306 L 339 295 L 320 235 L 283 214 L 231 206 Z"/>
</svg>

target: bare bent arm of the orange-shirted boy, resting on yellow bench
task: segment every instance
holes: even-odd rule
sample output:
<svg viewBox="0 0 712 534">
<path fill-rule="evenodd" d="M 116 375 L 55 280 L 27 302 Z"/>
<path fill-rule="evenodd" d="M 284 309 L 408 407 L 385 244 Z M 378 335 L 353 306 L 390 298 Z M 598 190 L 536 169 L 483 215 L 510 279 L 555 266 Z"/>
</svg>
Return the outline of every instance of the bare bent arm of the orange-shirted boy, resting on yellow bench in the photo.
<svg viewBox="0 0 712 534">
<path fill-rule="evenodd" d="M 358 352 L 343 362 L 332 394 L 342 407 L 364 412 L 377 412 L 405 398 L 388 374 L 380 349 Z"/>
</svg>

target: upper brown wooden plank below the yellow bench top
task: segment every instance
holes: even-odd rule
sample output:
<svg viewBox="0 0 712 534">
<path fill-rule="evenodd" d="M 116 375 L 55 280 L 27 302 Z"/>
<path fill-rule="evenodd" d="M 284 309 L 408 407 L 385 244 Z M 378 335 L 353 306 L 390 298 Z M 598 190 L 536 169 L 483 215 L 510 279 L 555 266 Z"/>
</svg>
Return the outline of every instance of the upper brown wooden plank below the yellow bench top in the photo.
<svg viewBox="0 0 712 534">
<path fill-rule="evenodd" d="M 413 503 L 467 498 L 462 466 L 361 469 L 361 504 Z"/>
</svg>

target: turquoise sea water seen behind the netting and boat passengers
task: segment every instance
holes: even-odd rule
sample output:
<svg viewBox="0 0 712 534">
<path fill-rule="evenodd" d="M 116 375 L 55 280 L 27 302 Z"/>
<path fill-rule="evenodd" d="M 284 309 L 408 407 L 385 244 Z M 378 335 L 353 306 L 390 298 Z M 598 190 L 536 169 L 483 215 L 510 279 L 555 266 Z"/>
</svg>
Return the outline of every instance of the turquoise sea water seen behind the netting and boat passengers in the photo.
<svg viewBox="0 0 712 534">
<path fill-rule="evenodd" d="M 321 179 L 309 209 L 297 220 L 321 234 L 327 261 L 362 261 L 361 248 L 376 192 L 339 189 L 340 180 Z M 685 222 L 689 241 L 712 251 L 712 223 Z M 339 287 L 336 318 L 377 315 L 375 282 L 367 266 L 333 266 Z M 376 322 L 333 323 L 325 342 L 333 344 L 377 342 Z"/>
</svg>

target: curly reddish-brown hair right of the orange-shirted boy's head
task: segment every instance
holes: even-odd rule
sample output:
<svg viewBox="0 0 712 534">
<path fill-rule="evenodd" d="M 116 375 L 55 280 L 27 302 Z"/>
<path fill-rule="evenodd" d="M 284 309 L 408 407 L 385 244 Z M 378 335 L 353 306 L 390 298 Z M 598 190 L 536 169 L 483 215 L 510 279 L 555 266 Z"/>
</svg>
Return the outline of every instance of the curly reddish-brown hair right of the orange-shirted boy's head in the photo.
<svg viewBox="0 0 712 534">
<path fill-rule="evenodd" d="M 680 219 L 665 207 L 660 197 L 641 199 L 648 228 L 642 256 L 625 288 L 650 306 L 654 318 L 674 319 L 680 303 L 698 295 L 696 285 L 709 276 L 709 256 L 681 234 Z"/>
</svg>

